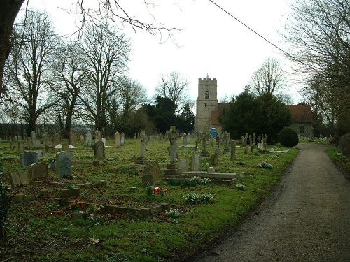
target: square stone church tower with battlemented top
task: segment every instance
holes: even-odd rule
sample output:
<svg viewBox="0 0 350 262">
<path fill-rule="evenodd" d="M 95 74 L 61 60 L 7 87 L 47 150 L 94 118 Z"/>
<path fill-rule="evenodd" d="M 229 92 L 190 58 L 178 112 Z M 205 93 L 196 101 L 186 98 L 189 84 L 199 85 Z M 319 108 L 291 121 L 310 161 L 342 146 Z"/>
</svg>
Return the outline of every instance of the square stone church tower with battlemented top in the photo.
<svg viewBox="0 0 350 262">
<path fill-rule="evenodd" d="M 195 133 L 209 133 L 211 127 L 211 114 L 218 107 L 218 82 L 216 78 L 198 80 L 198 98 L 195 117 Z"/>
</svg>

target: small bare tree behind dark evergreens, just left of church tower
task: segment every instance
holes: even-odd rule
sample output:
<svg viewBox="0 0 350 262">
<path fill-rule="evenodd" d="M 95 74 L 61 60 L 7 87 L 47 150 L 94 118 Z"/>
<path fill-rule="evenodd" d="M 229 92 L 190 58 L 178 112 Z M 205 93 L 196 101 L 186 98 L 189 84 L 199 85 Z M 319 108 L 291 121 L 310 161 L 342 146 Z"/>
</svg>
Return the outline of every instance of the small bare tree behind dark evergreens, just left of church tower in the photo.
<svg viewBox="0 0 350 262">
<path fill-rule="evenodd" d="M 179 72 L 172 72 L 168 75 L 161 75 L 158 86 L 155 87 L 155 97 L 171 99 L 176 106 L 176 115 L 179 116 L 186 103 L 193 105 L 193 101 L 188 99 L 188 87 L 190 82 Z"/>
</svg>

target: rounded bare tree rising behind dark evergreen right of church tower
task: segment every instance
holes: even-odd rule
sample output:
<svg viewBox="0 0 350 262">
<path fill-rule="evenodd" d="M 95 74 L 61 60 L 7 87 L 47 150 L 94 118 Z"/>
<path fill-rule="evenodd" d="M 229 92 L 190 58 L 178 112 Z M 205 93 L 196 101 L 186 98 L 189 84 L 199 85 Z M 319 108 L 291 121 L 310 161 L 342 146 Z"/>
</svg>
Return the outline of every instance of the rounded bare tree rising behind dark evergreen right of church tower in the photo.
<svg viewBox="0 0 350 262">
<path fill-rule="evenodd" d="M 264 64 L 251 76 L 249 88 L 259 96 L 265 93 L 281 94 L 286 87 L 286 76 L 279 61 L 267 59 Z"/>
</svg>

